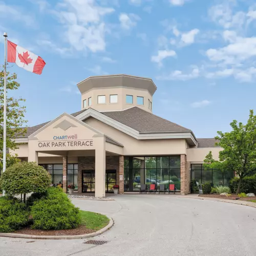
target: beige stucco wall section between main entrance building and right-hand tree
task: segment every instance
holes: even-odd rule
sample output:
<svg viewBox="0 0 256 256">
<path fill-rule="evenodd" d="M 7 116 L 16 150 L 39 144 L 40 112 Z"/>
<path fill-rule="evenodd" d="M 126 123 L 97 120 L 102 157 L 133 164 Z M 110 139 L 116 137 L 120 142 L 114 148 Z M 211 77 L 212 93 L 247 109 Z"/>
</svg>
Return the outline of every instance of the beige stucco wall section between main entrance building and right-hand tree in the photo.
<svg viewBox="0 0 256 256">
<path fill-rule="evenodd" d="M 212 157 L 215 160 L 219 160 L 219 152 L 222 150 L 221 147 L 199 147 L 199 148 L 187 148 L 187 161 L 191 163 L 203 163 L 205 156 L 212 152 Z"/>
</svg>

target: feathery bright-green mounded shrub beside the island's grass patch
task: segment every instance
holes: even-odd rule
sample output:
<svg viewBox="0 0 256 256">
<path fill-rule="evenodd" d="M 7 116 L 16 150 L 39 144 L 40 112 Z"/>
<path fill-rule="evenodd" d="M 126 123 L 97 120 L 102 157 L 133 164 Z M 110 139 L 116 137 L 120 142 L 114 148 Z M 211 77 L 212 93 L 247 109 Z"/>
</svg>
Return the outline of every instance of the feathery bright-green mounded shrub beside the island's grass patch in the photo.
<svg viewBox="0 0 256 256">
<path fill-rule="evenodd" d="M 34 229 L 70 229 L 80 224 L 79 208 L 75 207 L 61 188 L 50 187 L 46 196 L 31 207 Z"/>
</svg>

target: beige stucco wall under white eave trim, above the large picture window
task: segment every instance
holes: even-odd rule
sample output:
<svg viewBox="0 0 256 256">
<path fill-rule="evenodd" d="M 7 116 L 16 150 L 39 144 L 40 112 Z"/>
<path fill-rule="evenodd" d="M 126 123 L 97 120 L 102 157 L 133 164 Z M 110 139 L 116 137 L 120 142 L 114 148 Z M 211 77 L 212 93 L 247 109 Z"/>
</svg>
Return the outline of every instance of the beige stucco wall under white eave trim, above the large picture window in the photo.
<svg viewBox="0 0 256 256">
<path fill-rule="evenodd" d="M 121 143 L 124 156 L 133 155 L 180 155 L 186 154 L 185 139 L 154 139 L 137 140 L 112 126 L 102 123 L 95 118 L 89 118 L 86 123 L 106 136 Z"/>
</svg>

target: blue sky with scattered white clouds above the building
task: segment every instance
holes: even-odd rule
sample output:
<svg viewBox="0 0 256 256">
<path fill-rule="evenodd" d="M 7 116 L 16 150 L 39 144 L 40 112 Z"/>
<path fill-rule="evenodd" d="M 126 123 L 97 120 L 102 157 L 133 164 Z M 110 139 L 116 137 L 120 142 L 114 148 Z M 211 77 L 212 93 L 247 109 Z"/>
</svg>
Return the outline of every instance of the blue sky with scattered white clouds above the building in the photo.
<svg viewBox="0 0 256 256">
<path fill-rule="evenodd" d="M 129 74 L 154 80 L 154 114 L 227 132 L 256 109 L 255 28 L 253 0 L 0 0 L 0 33 L 46 61 L 41 75 L 8 65 L 29 126 L 79 111 L 79 81 Z"/>
</svg>

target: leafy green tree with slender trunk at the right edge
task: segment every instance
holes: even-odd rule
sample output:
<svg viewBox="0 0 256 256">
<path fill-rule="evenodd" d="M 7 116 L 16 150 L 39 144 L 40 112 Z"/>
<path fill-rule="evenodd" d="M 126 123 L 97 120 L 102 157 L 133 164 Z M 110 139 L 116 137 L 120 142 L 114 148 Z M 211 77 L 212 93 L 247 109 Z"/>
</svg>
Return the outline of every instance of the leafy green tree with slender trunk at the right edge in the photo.
<svg viewBox="0 0 256 256">
<path fill-rule="evenodd" d="M 239 177 L 239 185 L 236 195 L 240 192 L 242 180 L 256 168 L 256 116 L 250 110 L 246 124 L 233 120 L 230 123 L 231 132 L 217 132 L 215 137 L 223 148 L 219 153 L 219 161 L 212 157 L 211 151 L 205 157 L 204 167 L 224 170 L 232 170 Z"/>
</svg>

